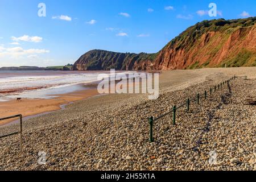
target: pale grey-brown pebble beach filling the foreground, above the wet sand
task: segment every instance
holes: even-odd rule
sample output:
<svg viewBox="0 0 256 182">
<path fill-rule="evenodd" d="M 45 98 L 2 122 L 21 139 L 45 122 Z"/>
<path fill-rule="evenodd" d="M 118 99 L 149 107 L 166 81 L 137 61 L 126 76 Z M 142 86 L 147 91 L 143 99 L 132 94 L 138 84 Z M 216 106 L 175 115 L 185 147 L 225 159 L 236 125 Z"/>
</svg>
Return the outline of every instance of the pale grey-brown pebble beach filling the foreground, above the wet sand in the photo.
<svg viewBox="0 0 256 182">
<path fill-rule="evenodd" d="M 256 113 L 248 102 L 256 100 L 255 73 L 255 67 L 163 71 L 157 100 L 147 94 L 108 94 L 28 119 L 22 152 L 18 135 L 0 138 L 0 169 L 255 170 Z M 148 142 L 148 117 L 234 75 L 249 80 L 238 77 L 200 105 L 191 104 L 188 113 L 180 110 L 175 126 L 172 115 L 160 119 L 154 142 Z M 1 127 L 0 135 L 18 127 Z M 38 164 L 39 151 L 46 152 L 46 165 Z M 209 164 L 211 151 L 217 152 L 214 164 Z"/>
</svg>

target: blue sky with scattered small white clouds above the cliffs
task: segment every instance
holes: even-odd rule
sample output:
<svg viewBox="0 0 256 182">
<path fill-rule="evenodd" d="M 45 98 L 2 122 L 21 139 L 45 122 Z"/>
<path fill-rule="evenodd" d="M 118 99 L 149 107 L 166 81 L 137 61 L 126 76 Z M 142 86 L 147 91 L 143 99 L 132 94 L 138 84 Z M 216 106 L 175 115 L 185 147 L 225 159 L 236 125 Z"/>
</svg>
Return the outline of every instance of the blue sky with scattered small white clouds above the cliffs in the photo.
<svg viewBox="0 0 256 182">
<path fill-rule="evenodd" d="M 217 17 L 208 15 L 211 2 Z M 65 65 L 90 49 L 158 52 L 201 20 L 255 12 L 255 0 L 0 0 L 0 67 Z"/>
</svg>

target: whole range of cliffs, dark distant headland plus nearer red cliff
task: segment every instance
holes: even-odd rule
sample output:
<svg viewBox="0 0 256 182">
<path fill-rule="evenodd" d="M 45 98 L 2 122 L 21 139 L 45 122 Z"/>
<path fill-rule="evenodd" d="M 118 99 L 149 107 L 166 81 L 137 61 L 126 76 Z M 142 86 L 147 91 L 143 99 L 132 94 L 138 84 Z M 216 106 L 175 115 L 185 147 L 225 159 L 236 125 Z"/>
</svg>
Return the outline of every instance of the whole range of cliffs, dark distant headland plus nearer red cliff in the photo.
<svg viewBox="0 0 256 182">
<path fill-rule="evenodd" d="M 93 50 L 75 70 L 171 70 L 256 66 L 256 17 L 204 20 L 182 32 L 155 54 Z"/>
</svg>

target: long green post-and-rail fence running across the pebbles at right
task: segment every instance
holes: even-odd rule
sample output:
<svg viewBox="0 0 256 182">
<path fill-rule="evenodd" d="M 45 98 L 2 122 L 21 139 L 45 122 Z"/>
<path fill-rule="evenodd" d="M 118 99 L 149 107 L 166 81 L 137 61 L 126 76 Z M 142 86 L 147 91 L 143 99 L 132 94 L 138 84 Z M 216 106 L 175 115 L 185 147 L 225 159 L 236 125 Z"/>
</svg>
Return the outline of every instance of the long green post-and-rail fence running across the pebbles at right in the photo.
<svg viewBox="0 0 256 182">
<path fill-rule="evenodd" d="M 245 80 L 247 80 L 247 76 L 241 76 L 242 78 L 245 78 Z M 207 90 L 204 91 L 203 97 L 206 100 L 208 97 L 208 94 L 211 96 L 213 94 L 213 92 L 216 92 L 217 90 L 220 90 L 222 88 L 222 86 L 224 86 L 225 84 L 228 84 L 231 80 L 236 80 L 236 78 L 238 78 L 237 76 L 233 76 L 232 78 L 225 80 L 223 82 L 220 82 L 220 84 L 215 85 L 213 88 L 211 87 L 209 89 L 209 92 L 207 92 Z M 173 106 L 172 110 L 168 111 L 167 113 L 160 115 L 158 118 L 154 118 L 154 117 L 150 117 L 149 120 L 149 124 L 150 124 L 150 142 L 154 142 L 154 138 L 153 138 L 153 125 L 155 121 L 158 121 L 159 119 L 165 117 L 166 115 L 172 113 L 172 123 L 173 125 L 176 124 L 176 113 L 177 113 L 177 109 L 180 109 L 183 106 L 187 106 L 187 111 L 189 111 L 189 106 L 191 104 L 191 102 L 197 102 L 197 104 L 200 104 L 200 94 L 197 93 L 196 97 L 193 97 L 192 100 L 190 98 L 187 99 L 187 101 L 184 102 L 184 104 L 181 104 L 180 106 Z"/>
</svg>

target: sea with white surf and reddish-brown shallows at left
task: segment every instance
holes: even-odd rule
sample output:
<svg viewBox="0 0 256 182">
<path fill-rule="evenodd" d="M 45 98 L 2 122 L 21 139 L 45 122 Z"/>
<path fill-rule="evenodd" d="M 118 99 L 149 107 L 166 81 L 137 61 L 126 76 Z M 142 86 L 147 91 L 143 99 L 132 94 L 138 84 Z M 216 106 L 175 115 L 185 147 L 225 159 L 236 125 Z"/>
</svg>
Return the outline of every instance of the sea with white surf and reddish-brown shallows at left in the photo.
<svg viewBox="0 0 256 182">
<path fill-rule="evenodd" d="M 95 71 L 0 71 L 0 102 L 15 98 L 49 99 L 89 89 L 97 82 Z M 129 72 L 125 72 L 129 73 Z"/>
</svg>

